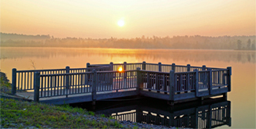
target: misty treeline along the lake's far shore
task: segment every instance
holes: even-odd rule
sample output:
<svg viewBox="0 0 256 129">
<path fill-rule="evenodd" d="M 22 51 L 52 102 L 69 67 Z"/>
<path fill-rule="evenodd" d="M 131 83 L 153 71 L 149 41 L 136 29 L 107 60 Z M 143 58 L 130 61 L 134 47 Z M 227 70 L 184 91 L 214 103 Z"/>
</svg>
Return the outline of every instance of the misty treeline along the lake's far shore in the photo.
<svg viewBox="0 0 256 129">
<path fill-rule="evenodd" d="M 50 35 L 1 33 L 2 47 L 73 47 L 73 48 L 179 48 L 255 50 L 252 36 L 173 36 L 146 38 L 54 38 Z"/>
</svg>

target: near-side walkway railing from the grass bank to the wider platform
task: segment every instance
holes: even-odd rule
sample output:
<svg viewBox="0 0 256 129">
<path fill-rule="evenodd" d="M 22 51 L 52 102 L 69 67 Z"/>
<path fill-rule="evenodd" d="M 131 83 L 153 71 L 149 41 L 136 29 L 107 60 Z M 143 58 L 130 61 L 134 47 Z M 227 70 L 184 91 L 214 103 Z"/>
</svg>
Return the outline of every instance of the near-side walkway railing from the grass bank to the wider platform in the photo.
<svg viewBox="0 0 256 129">
<path fill-rule="evenodd" d="M 113 81 L 110 81 L 109 77 Z M 96 71 L 87 73 L 58 73 L 43 74 L 35 72 L 35 101 L 39 98 L 66 96 L 91 93 L 95 99 L 96 94 L 105 91 L 136 91 L 137 70 Z M 113 82 L 113 84 L 110 84 Z"/>
</svg>

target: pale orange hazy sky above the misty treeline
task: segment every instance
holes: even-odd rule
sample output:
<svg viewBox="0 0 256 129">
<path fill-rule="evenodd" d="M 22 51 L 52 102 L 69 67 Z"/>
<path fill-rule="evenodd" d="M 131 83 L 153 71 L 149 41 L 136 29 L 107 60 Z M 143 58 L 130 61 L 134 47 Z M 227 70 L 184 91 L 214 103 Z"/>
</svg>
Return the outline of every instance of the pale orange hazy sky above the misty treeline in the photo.
<svg viewBox="0 0 256 129">
<path fill-rule="evenodd" d="M 255 8 L 255 0 L 2 0 L 1 32 L 58 38 L 254 35 Z"/>
</svg>

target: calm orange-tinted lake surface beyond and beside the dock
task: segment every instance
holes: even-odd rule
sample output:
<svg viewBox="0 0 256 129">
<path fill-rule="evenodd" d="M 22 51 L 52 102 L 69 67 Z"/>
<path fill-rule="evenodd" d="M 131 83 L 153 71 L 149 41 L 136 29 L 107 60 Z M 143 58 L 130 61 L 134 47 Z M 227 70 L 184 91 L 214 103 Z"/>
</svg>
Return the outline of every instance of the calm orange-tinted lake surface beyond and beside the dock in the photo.
<svg viewBox="0 0 256 129">
<path fill-rule="evenodd" d="M 1 48 L 1 71 L 85 67 L 86 63 L 159 63 L 191 66 L 232 66 L 231 127 L 255 128 L 255 52 L 232 50 Z M 223 125 L 221 127 L 228 127 Z"/>
</svg>

